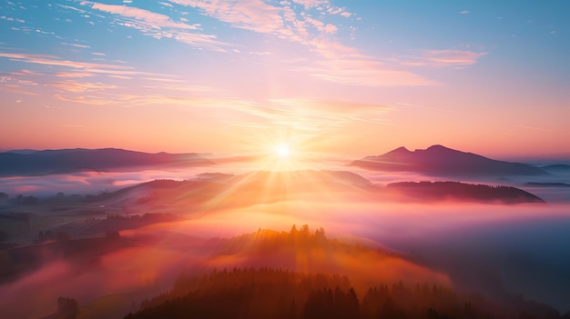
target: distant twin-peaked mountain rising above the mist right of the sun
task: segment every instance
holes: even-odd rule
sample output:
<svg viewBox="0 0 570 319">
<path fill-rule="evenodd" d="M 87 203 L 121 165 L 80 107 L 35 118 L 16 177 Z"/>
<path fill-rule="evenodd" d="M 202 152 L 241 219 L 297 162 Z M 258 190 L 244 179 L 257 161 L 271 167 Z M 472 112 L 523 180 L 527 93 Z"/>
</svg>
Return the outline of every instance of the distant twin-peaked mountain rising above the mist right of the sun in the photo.
<svg viewBox="0 0 570 319">
<path fill-rule="evenodd" d="M 544 170 L 520 163 L 497 161 L 473 153 L 464 153 L 433 145 L 426 150 L 397 148 L 379 156 L 353 161 L 353 166 L 377 171 L 409 171 L 440 176 L 543 175 Z"/>
</svg>

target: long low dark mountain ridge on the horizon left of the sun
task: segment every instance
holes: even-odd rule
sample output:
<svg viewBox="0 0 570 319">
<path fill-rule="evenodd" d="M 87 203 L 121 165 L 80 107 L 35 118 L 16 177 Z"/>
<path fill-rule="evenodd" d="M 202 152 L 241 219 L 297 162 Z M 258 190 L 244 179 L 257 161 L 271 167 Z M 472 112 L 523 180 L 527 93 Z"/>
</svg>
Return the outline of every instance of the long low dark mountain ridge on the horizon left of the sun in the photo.
<svg viewBox="0 0 570 319">
<path fill-rule="evenodd" d="M 198 154 L 148 154 L 123 149 L 63 149 L 29 154 L 0 153 L 0 175 L 66 174 L 148 166 L 208 166 L 214 162 Z"/>
</svg>

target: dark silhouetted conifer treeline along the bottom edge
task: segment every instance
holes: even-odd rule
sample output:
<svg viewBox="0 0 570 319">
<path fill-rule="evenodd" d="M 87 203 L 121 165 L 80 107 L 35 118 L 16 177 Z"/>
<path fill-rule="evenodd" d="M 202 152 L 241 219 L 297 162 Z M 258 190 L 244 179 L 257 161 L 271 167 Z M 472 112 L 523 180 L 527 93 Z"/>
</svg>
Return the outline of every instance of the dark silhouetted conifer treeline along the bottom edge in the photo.
<svg viewBox="0 0 570 319">
<path fill-rule="evenodd" d="M 174 288 L 144 301 L 125 319 L 147 318 L 570 318 L 516 299 L 491 302 L 450 288 L 402 282 L 374 286 L 359 296 L 346 276 L 281 269 L 213 270 L 180 275 Z"/>
</svg>

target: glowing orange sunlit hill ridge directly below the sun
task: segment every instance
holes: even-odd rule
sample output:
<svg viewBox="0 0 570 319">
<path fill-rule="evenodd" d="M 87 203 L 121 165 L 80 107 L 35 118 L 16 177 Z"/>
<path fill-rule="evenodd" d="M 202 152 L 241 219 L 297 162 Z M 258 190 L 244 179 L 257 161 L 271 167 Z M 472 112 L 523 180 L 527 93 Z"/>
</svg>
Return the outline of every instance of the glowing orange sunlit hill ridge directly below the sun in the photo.
<svg viewBox="0 0 570 319">
<path fill-rule="evenodd" d="M 122 205 L 164 204 L 185 211 L 284 202 L 295 196 L 319 199 L 336 192 L 358 192 L 371 183 L 359 174 L 334 171 L 293 171 L 249 174 L 199 174 L 188 181 L 152 181 L 113 193 L 88 196 L 90 202 Z"/>
</svg>

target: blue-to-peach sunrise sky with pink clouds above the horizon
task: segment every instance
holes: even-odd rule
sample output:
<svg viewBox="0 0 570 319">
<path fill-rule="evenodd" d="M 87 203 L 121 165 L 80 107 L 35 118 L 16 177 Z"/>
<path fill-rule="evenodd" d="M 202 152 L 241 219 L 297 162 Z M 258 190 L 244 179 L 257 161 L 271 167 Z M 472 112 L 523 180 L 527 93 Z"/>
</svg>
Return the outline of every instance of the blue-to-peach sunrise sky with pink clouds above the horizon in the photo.
<svg viewBox="0 0 570 319">
<path fill-rule="evenodd" d="M 0 150 L 570 157 L 570 2 L 0 1 Z"/>
</svg>

